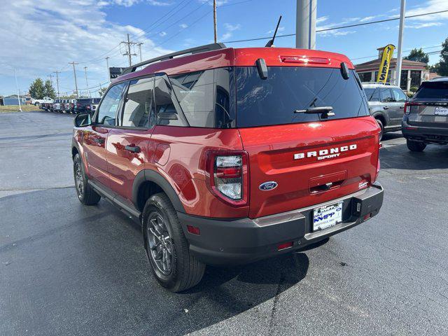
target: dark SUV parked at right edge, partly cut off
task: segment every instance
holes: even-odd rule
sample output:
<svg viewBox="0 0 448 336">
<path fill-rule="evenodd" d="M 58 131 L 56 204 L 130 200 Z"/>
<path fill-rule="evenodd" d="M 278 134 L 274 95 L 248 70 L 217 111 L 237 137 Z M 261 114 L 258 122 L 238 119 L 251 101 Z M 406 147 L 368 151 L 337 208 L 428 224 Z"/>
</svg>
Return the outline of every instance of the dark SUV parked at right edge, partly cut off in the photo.
<svg viewBox="0 0 448 336">
<path fill-rule="evenodd" d="M 448 77 L 421 83 L 405 106 L 402 133 L 410 151 L 448 144 Z"/>
</svg>

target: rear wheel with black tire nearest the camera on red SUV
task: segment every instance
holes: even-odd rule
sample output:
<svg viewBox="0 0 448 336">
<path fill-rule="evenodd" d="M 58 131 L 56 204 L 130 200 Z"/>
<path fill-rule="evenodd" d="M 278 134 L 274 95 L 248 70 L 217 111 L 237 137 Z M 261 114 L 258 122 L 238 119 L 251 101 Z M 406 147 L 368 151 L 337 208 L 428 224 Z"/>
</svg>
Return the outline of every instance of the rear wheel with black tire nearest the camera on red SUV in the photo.
<svg viewBox="0 0 448 336">
<path fill-rule="evenodd" d="M 165 193 L 155 194 L 146 201 L 141 221 L 146 255 L 159 283 L 172 292 L 181 292 L 197 285 L 204 275 L 205 265 L 190 254 L 176 210 Z M 153 223 L 157 223 L 158 229 Z M 162 239 L 155 239 L 155 232 Z M 155 241 L 160 243 L 155 244 Z M 159 255 L 160 259 L 157 258 Z M 161 266 L 165 266 L 162 262 L 165 255 L 167 269 Z"/>
</svg>

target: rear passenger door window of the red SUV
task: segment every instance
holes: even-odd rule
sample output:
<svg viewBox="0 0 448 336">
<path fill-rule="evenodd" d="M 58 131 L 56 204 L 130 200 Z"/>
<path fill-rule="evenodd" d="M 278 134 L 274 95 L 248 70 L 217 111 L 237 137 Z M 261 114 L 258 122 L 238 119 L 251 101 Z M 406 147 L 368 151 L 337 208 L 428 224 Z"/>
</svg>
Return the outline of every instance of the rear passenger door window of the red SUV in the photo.
<svg viewBox="0 0 448 336">
<path fill-rule="evenodd" d="M 132 80 L 127 90 L 121 126 L 152 127 L 154 125 L 153 91 L 154 77 Z"/>
</svg>

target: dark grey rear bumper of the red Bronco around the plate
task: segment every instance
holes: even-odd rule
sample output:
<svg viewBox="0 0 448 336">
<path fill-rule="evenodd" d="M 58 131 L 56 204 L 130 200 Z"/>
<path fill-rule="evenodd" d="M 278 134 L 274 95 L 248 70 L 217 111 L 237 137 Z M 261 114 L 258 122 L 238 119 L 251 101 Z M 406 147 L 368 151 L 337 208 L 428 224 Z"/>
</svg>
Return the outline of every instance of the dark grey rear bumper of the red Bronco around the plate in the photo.
<svg viewBox="0 0 448 336">
<path fill-rule="evenodd" d="M 378 214 L 383 204 L 383 194 L 381 185 L 374 183 L 369 188 L 337 200 L 261 218 L 225 220 L 181 212 L 178 216 L 190 244 L 190 252 L 199 260 L 210 265 L 237 265 L 297 251 L 353 228 L 363 223 L 365 216 L 370 214 L 371 218 Z M 340 201 L 343 202 L 342 223 L 312 232 L 313 209 Z M 200 228 L 200 235 L 188 232 L 187 225 Z M 292 247 L 277 250 L 279 244 L 289 241 L 293 241 Z"/>
</svg>

